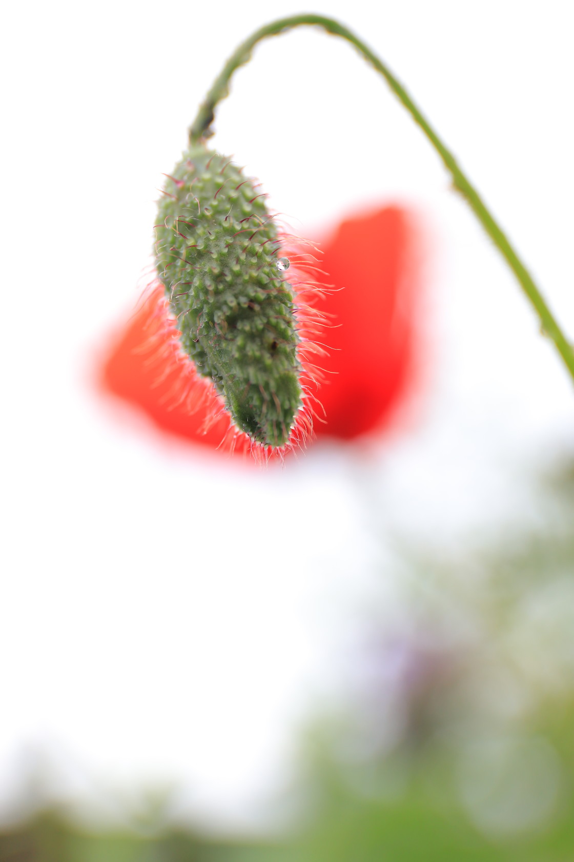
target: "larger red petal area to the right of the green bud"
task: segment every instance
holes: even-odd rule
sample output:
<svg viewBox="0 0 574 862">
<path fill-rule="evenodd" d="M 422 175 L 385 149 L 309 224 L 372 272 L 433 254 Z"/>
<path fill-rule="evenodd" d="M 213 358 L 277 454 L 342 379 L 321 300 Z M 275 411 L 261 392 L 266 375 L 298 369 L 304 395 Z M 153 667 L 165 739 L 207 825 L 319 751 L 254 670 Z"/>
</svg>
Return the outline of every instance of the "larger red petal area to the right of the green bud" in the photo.
<svg viewBox="0 0 574 862">
<path fill-rule="evenodd" d="M 352 440 L 380 428 L 409 381 L 413 336 L 414 229 L 404 209 L 386 207 L 343 222 L 324 246 L 325 284 L 335 284 L 318 309 L 337 328 L 325 329 L 330 372 L 318 393 L 326 425 L 318 435 Z M 338 349 L 335 349 L 338 348 Z"/>
</svg>

